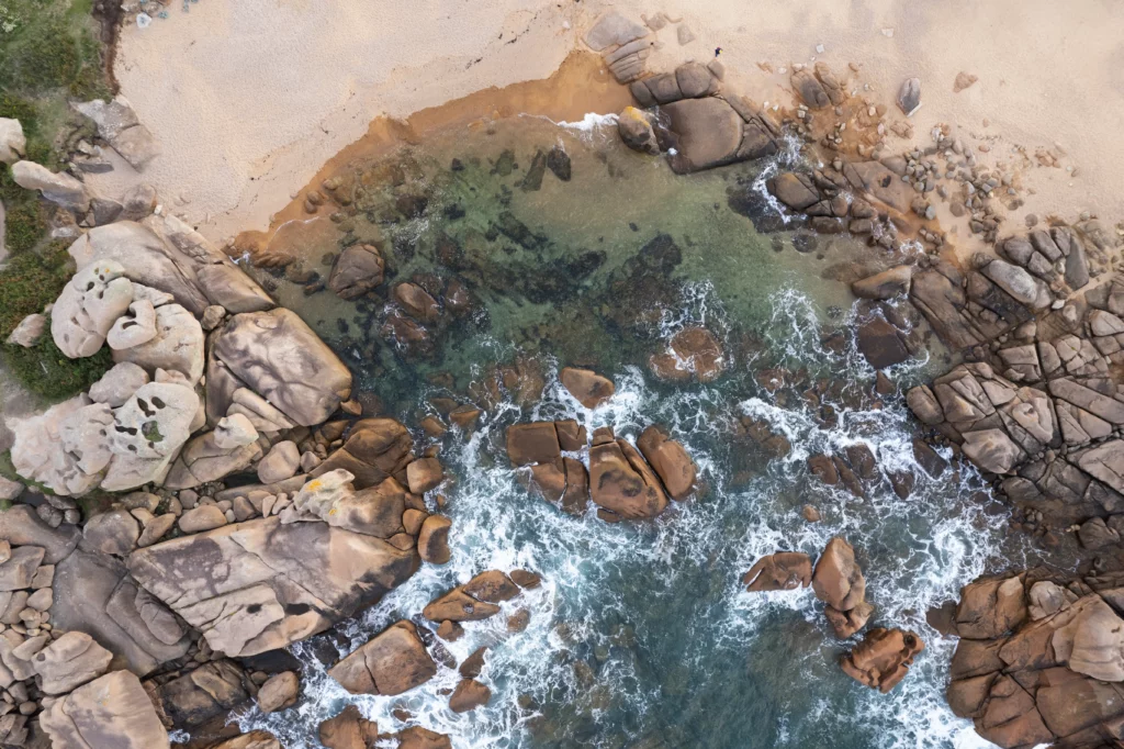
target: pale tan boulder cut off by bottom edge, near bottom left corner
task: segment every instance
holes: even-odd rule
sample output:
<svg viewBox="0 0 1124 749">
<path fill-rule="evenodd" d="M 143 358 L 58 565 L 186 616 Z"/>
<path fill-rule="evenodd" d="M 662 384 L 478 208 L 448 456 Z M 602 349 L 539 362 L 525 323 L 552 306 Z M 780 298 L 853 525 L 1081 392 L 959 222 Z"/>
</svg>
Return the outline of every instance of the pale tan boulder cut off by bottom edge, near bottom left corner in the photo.
<svg viewBox="0 0 1124 749">
<path fill-rule="evenodd" d="M 53 749 L 167 749 L 171 745 L 140 680 L 114 671 L 56 700 L 39 716 Z"/>
</svg>

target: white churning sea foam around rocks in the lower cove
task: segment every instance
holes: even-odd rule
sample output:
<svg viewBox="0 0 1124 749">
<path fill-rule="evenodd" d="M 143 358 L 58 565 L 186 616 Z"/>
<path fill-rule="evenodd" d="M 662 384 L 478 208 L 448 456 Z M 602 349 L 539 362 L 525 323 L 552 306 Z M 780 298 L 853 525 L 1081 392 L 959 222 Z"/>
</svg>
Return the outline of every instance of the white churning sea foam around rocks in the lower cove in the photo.
<svg viewBox="0 0 1124 749">
<path fill-rule="evenodd" d="M 871 372 L 853 350 L 841 364 L 822 346 L 809 300 L 785 291 L 774 296 L 773 307 L 764 335 L 774 353 L 809 368 L 826 367 L 835 377 L 869 381 Z M 711 288 L 688 287 L 682 308 L 661 321 L 660 333 L 699 323 L 722 331 L 724 315 Z M 495 349 L 496 360 L 510 353 L 501 342 L 486 346 Z M 722 381 L 667 394 L 645 372 L 629 368 L 611 373 L 617 392 L 610 401 L 587 409 L 553 374 L 558 364 L 544 362 L 552 374 L 542 401 L 528 413 L 501 404 L 470 439 L 448 441 L 443 462 L 457 476 L 446 509 L 454 521 L 452 562 L 424 565 L 377 606 L 338 628 L 337 644 L 320 638 L 294 646 L 306 664 L 302 703 L 269 716 L 252 709 L 241 716 L 244 729 L 273 731 L 288 749 L 312 748 L 318 746 L 316 725 L 352 703 L 383 732 L 402 728 L 392 712 L 406 710 L 411 723 L 451 734 L 459 749 L 534 746 L 535 731 L 542 730 L 536 721 L 547 716 L 559 730 L 592 725 L 593 733 L 581 746 L 602 746 L 613 734 L 635 741 L 659 727 L 670 737 L 674 730 L 699 730 L 680 727 L 680 719 L 668 712 L 667 701 L 677 698 L 677 679 L 715 694 L 723 686 L 711 679 L 727 678 L 723 665 L 741 657 L 758 669 L 773 658 L 792 669 L 761 671 L 772 674 L 776 693 L 770 700 L 779 705 L 769 724 L 760 727 L 762 740 L 773 736 L 774 746 L 821 745 L 817 737 L 835 733 L 850 736 L 849 746 L 885 749 L 986 746 L 944 702 L 953 643 L 928 628 L 925 611 L 955 597 L 961 585 L 986 570 L 1001 538 L 1000 523 L 970 497 L 985 488 L 973 472 L 964 470 L 953 482 L 951 469 L 930 478 L 917 466 L 913 424 L 903 406 L 836 404 L 837 424 L 824 428 L 803 401 L 781 406 L 765 392 L 745 397 L 744 390 L 738 399 L 723 390 Z M 749 484 L 734 486 L 728 451 L 740 448 L 731 448 L 727 435 L 741 415 L 768 421 L 792 451 Z M 660 422 L 687 445 L 709 490 L 673 504 L 651 523 L 606 524 L 592 508 L 583 517 L 571 517 L 528 495 L 508 467 L 504 430 L 519 418 L 575 418 L 589 430 L 609 425 L 629 439 Z M 883 470 L 913 470 L 917 485 L 908 499 L 898 499 L 885 482 L 862 500 L 808 478 L 808 455 L 839 453 L 858 442 L 871 446 Z M 588 451 L 579 457 L 588 460 Z M 794 497 L 796 490 L 804 494 Z M 819 507 L 822 522 L 799 520 L 804 502 Z M 836 534 L 849 538 L 859 551 L 868 597 L 878 606 L 873 623 L 913 629 L 927 644 L 913 673 L 889 695 L 862 688 L 841 674 L 835 665 L 841 649 L 810 590 L 750 594 L 740 583 L 759 557 L 782 549 L 815 554 Z M 397 697 L 353 696 L 327 677 L 317 653 L 346 655 L 395 621 L 417 616 L 441 593 L 492 568 L 532 569 L 544 581 L 540 589 L 504 604 L 502 615 L 466 623 L 464 638 L 443 643 L 457 661 L 481 646 L 490 648 L 480 677 L 492 689 L 486 707 L 452 713 L 439 692 L 460 677 L 444 666 L 434 679 Z M 637 580 L 647 587 L 637 589 Z M 714 589 L 685 589 L 694 585 Z M 531 625 L 510 634 L 507 615 L 520 607 L 531 612 Z M 689 621 L 664 621 L 664 611 Z M 681 628 L 682 637 L 669 635 L 669 628 Z M 626 630 L 634 633 L 636 647 L 620 644 Z M 650 651 L 651 643 L 671 643 L 680 651 Z M 581 662 L 596 671 L 592 684 L 583 680 L 581 668 L 575 670 Z M 520 709 L 520 696 L 534 706 Z M 691 736 L 678 746 L 710 741 Z M 579 743 L 565 737 L 555 740 Z M 749 746 L 767 746 L 754 741 Z M 677 745 L 669 738 L 667 746 Z"/>
</svg>

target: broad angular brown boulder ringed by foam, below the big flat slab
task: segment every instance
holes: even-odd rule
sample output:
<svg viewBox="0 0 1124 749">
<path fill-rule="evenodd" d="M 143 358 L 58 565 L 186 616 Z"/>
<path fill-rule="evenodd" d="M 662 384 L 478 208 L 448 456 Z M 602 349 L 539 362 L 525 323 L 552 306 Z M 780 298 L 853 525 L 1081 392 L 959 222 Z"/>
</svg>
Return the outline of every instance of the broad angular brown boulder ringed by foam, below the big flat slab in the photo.
<svg viewBox="0 0 1124 749">
<path fill-rule="evenodd" d="M 328 676 L 352 694 L 379 695 L 409 692 L 436 673 L 417 628 L 407 621 L 383 630 L 328 669 Z"/>
</svg>

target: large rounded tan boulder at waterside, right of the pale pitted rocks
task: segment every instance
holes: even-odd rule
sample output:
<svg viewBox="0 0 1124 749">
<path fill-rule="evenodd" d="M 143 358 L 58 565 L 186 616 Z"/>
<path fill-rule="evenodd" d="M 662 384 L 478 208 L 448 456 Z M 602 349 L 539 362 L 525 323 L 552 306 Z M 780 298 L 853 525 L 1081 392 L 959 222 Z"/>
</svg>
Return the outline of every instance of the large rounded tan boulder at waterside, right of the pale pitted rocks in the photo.
<svg viewBox="0 0 1124 749">
<path fill-rule="evenodd" d="M 212 334 L 210 345 L 207 401 L 212 418 L 227 415 L 223 405 L 233 403 L 239 388 L 250 388 L 303 426 L 326 421 L 351 395 L 351 371 L 288 309 L 234 315 Z"/>
</svg>

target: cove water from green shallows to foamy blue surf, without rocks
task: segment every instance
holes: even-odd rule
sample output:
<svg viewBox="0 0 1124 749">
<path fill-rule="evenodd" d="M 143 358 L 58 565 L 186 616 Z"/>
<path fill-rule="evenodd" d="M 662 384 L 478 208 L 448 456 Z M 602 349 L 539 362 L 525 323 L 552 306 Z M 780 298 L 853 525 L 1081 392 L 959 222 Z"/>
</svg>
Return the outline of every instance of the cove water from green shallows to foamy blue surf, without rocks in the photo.
<svg viewBox="0 0 1124 749">
<path fill-rule="evenodd" d="M 572 179 L 547 170 L 538 190 L 524 190 L 536 151 L 555 145 L 569 154 Z M 306 297 L 284 280 L 277 290 L 387 413 L 416 426 L 429 398 L 463 400 L 471 382 L 516 357 L 542 369 L 545 389 L 534 404 L 501 396 L 470 439 L 441 440 L 455 477 L 444 491 L 453 561 L 424 566 L 359 619 L 294 647 L 306 664 L 303 701 L 270 716 L 247 712 L 244 728 L 272 730 L 290 749 L 316 747 L 316 725 L 353 702 L 383 732 L 407 724 L 392 714 L 405 710 L 450 733 L 455 747 L 982 746 L 944 705 L 953 643 L 927 626 L 925 612 L 1001 560 L 1018 563 L 1023 550 L 1007 539 L 994 503 L 981 502 L 978 477 L 931 479 L 914 463 L 907 412 L 872 395 L 873 371 L 851 341 L 852 300 L 845 285 L 824 278 L 869 261 L 871 251 L 846 237 L 797 251 L 794 240 L 803 250 L 807 241 L 760 189 L 762 171 L 773 168 L 674 177 L 620 147 L 611 126 L 517 118 L 354 164 L 352 177 L 366 186 L 355 216 L 285 228 L 275 242 L 299 245 L 307 268 L 325 276 L 320 259 L 337 251 L 341 235 L 383 243 L 393 278 L 379 299 Z M 478 306 L 435 331 L 430 352 L 398 351 L 380 335 L 388 290 L 425 273 L 463 280 Z M 647 358 L 691 325 L 720 337 L 726 374 L 709 385 L 656 380 Z M 613 377 L 615 398 L 583 408 L 556 380 L 570 363 Z M 776 366 L 807 370 L 808 383 L 839 382 L 826 398 L 835 418 L 824 423 L 800 397 L 808 385 L 764 390 L 755 376 Z M 909 382 L 925 367 L 891 374 Z M 791 452 L 770 458 L 740 436 L 743 416 L 768 422 Z M 705 490 L 647 523 L 561 513 L 522 487 L 502 444 L 517 421 L 566 417 L 631 437 L 664 424 L 695 458 Z M 809 454 L 858 441 L 874 449 L 883 470 L 914 470 L 908 499 L 885 480 L 859 499 L 808 475 Z M 819 508 L 822 522 L 800 517 L 805 504 Z M 834 640 L 810 590 L 749 594 L 740 585 L 760 556 L 816 554 L 835 534 L 856 549 L 877 606 L 872 625 L 912 629 L 927 643 L 890 695 L 839 669 L 847 643 Z M 445 644 L 457 660 L 490 646 L 487 707 L 447 710 L 441 692 L 457 682 L 455 669 L 393 698 L 350 696 L 324 674 L 325 664 L 417 616 L 453 585 L 514 567 L 545 580 L 508 604 L 507 613 L 527 607 L 531 626 L 513 635 L 497 616 Z"/>
</svg>

